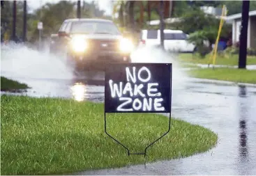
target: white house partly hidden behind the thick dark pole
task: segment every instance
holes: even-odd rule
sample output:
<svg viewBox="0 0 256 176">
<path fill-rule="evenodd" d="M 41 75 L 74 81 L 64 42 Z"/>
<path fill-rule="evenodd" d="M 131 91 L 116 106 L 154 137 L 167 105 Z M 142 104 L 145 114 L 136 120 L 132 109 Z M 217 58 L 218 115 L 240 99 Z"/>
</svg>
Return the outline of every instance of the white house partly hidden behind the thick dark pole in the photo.
<svg viewBox="0 0 256 176">
<path fill-rule="evenodd" d="M 230 15 L 225 18 L 226 22 L 232 23 L 232 42 L 233 44 L 239 42 L 239 35 L 241 31 L 241 13 Z M 248 19 L 248 38 L 247 47 L 256 48 L 256 10 L 249 12 Z"/>
</svg>

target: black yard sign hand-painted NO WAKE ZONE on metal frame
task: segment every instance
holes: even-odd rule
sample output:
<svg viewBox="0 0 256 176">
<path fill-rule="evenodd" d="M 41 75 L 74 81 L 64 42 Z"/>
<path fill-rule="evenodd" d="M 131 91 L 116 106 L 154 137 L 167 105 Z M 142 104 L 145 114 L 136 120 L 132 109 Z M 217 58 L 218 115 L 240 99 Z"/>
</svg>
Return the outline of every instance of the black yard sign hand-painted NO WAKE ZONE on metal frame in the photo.
<svg viewBox="0 0 256 176">
<path fill-rule="evenodd" d="M 105 70 L 106 134 L 106 113 L 171 114 L 171 96 L 171 63 L 127 63 L 108 65 Z M 169 131 L 170 128 L 167 132 Z M 109 134 L 107 135 L 110 136 Z M 165 134 L 163 136 L 165 136 Z M 112 136 L 110 137 L 113 138 Z M 116 139 L 114 140 L 119 143 Z M 152 144 L 153 143 L 151 143 L 151 145 Z M 123 147 L 125 146 L 123 145 Z M 128 150 L 127 147 L 126 149 Z M 146 149 L 144 155 L 146 154 Z M 129 150 L 128 154 L 130 154 Z"/>
</svg>

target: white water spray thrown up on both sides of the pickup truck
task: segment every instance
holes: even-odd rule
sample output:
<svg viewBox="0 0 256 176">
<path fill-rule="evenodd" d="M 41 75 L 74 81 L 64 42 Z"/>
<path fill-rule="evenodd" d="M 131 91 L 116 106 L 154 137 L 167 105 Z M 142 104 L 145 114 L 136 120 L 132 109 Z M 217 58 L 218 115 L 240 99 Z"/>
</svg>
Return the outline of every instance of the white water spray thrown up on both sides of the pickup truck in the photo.
<svg viewBox="0 0 256 176">
<path fill-rule="evenodd" d="M 157 48 L 140 48 L 133 52 L 133 63 L 172 63 L 172 88 L 183 89 L 186 74 L 179 67 L 175 54 Z M 25 45 L 1 45 L 1 74 L 5 77 L 21 79 L 65 79 L 104 80 L 103 72 L 86 72 L 74 74 L 74 68 L 66 61 L 65 56 L 54 56 L 49 51 L 38 51 Z M 70 81 L 67 81 L 69 83 Z M 80 82 L 80 81 L 79 81 Z M 36 84 L 36 86 L 38 83 Z"/>
</svg>

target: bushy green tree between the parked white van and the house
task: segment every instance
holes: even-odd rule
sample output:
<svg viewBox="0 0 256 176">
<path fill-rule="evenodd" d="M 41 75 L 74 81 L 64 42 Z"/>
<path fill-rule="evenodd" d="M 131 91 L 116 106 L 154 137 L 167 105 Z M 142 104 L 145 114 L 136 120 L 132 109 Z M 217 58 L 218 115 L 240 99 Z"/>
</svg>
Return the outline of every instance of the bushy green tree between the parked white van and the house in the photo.
<svg viewBox="0 0 256 176">
<path fill-rule="evenodd" d="M 197 51 L 204 56 L 211 51 L 211 45 L 216 41 L 220 19 L 213 15 L 205 14 L 199 8 L 190 8 L 181 17 L 181 21 L 174 24 L 176 29 L 189 34 L 188 41 L 197 46 Z M 229 38 L 232 31 L 230 24 L 223 24 L 220 33 L 221 38 Z M 206 48 L 204 42 L 209 42 L 209 48 Z"/>
</svg>

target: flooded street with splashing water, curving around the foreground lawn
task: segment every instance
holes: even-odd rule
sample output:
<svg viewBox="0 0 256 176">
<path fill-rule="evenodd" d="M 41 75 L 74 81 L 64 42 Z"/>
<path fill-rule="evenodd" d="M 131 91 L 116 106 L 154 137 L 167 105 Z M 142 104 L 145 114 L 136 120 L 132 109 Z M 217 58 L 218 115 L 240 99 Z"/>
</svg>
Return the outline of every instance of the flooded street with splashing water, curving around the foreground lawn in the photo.
<svg viewBox="0 0 256 176">
<path fill-rule="evenodd" d="M 174 56 L 161 51 L 149 54 L 142 49 L 133 58 L 134 62 L 174 63 L 172 116 L 216 132 L 218 144 L 184 159 L 75 175 L 256 175 L 256 87 L 200 83 L 186 77 Z M 104 102 L 103 72 L 75 76 L 63 58 L 47 52 L 2 49 L 1 75 L 27 83 L 31 89 L 24 95 Z"/>
</svg>

